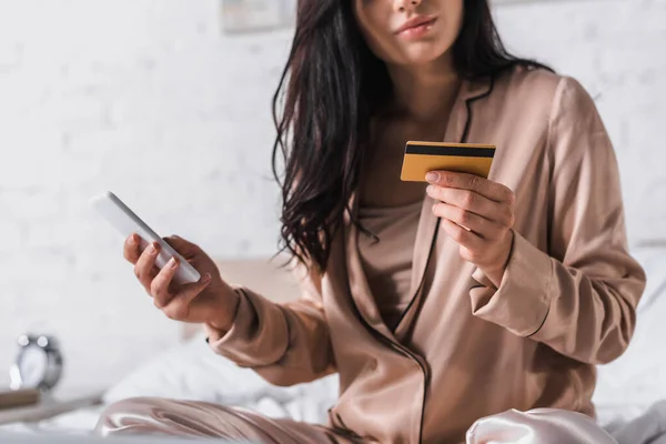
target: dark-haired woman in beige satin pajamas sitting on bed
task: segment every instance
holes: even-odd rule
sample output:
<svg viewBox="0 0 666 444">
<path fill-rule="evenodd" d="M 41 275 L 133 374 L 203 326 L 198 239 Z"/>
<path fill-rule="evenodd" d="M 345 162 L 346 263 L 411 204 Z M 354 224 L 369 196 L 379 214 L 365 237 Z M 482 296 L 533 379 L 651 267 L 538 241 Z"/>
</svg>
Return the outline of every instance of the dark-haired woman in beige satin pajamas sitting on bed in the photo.
<svg viewBox="0 0 666 444">
<path fill-rule="evenodd" d="M 486 0 L 302 0 L 275 104 L 282 85 L 282 239 L 306 270 L 302 299 L 278 305 L 232 287 L 179 238 L 169 241 L 200 283 L 171 283 L 178 263 L 157 270 L 135 238 L 124 254 L 159 309 L 204 323 L 211 347 L 239 365 L 278 385 L 337 372 L 330 423 L 131 400 L 99 432 L 609 438 L 592 420 L 595 364 L 626 349 L 645 276 L 627 253 L 613 148 L 585 90 L 507 54 Z M 401 182 L 408 140 L 495 144 L 490 179 L 435 171 L 427 188 Z"/>
</svg>

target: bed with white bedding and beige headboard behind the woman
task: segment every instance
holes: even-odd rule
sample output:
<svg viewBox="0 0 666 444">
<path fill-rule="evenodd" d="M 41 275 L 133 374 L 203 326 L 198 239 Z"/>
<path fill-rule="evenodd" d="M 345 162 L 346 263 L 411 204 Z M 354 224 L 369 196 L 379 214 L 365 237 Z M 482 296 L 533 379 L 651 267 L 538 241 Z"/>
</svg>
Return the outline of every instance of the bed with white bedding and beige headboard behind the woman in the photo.
<svg viewBox="0 0 666 444">
<path fill-rule="evenodd" d="M 650 243 L 633 252 L 648 273 L 648 286 L 638 310 L 638 324 L 627 352 L 614 363 L 602 366 L 594 401 L 598 421 L 618 442 L 657 443 L 666 436 L 666 250 Z M 238 283 L 251 283 L 275 301 L 297 295 L 291 275 L 268 260 L 219 261 L 223 275 Z M 263 276 L 256 280 L 258 275 Z M 252 371 L 236 367 L 210 352 L 198 325 L 183 325 L 183 341 L 149 360 L 101 396 L 101 404 L 77 408 L 47 420 L 0 426 L 0 437 L 18 433 L 58 437 L 89 436 L 104 405 L 133 396 L 163 396 L 245 406 L 273 417 L 324 422 L 326 410 L 337 393 L 335 375 L 293 387 L 268 384 Z M 632 425 L 633 431 L 627 424 Z M 624 435 L 623 435 L 624 433 Z M 4 434 L 4 435 L 3 435 Z M 645 436 L 639 436 L 639 435 Z M 46 435 L 46 436 L 44 436 Z M 18 436 L 18 437 L 17 437 Z M 649 438 L 648 438 L 649 437 Z M 662 437 L 666 442 L 666 437 Z M 1 442 L 9 442 L 2 441 Z M 17 441 L 20 442 L 20 441 Z M 34 441 L 26 441 L 26 443 Z M 54 441 L 43 441 L 54 442 Z M 92 441 L 91 441 L 92 442 Z"/>
</svg>

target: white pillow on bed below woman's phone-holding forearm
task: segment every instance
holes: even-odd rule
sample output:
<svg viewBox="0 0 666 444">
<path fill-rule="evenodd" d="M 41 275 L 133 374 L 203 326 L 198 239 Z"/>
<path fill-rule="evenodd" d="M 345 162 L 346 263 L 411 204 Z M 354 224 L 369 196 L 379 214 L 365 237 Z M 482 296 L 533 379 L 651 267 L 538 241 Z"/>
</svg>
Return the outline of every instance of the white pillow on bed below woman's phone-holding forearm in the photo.
<svg viewBox="0 0 666 444">
<path fill-rule="evenodd" d="M 135 396 L 205 401 L 248 407 L 270 417 L 325 423 L 337 389 L 337 375 L 292 387 L 274 386 L 215 354 L 199 332 L 131 372 L 107 391 L 104 402 Z"/>
</svg>

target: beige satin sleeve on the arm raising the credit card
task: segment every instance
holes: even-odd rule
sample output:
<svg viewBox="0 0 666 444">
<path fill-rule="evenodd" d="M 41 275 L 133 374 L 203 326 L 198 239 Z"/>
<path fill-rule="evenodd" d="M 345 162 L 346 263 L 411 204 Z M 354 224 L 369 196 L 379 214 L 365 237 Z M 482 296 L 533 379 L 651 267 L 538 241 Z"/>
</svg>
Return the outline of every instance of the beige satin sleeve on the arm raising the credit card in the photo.
<svg viewBox="0 0 666 444">
<path fill-rule="evenodd" d="M 610 140 L 593 99 L 571 78 L 557 88 L 547 149 L 549 251 L 514 232 L 500 287 L 474 272 L 472 310 L 563 355 L 608 363 L 634 333 L 645 273 L 628 253 Z"/>
</svg>

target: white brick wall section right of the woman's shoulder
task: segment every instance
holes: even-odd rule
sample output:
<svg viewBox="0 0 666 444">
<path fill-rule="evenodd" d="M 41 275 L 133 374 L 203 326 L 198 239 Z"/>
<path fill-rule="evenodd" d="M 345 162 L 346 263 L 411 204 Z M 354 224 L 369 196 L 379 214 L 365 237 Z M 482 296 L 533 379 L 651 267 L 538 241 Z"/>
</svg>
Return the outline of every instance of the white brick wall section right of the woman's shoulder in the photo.
<svg viewBox="0 0 666 444">
<path fill-rule="evenodd" d="M 615 143 L 633 243 L 666 240 L 666 0 L 501 8 L 508 47 L 586 85 Z M 662 131 L 659 131 L 662 130 Z"/>
</svg>

